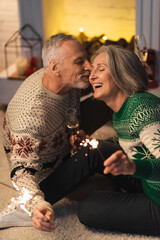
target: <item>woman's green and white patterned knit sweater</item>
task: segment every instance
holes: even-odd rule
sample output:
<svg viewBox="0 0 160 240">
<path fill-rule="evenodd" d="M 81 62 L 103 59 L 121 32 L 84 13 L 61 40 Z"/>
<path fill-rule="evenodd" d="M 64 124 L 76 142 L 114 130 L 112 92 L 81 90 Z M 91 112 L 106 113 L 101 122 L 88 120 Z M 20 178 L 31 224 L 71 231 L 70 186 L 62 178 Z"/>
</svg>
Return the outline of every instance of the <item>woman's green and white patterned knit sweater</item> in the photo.
<svg viewBox="0 0 160 240">
<path fill-rule="evenodd" d="M 113 114 L 119 143 L 136 165 L 135 177 L 160 205 L 160 98 L 136 93 Z"/>
</svg>

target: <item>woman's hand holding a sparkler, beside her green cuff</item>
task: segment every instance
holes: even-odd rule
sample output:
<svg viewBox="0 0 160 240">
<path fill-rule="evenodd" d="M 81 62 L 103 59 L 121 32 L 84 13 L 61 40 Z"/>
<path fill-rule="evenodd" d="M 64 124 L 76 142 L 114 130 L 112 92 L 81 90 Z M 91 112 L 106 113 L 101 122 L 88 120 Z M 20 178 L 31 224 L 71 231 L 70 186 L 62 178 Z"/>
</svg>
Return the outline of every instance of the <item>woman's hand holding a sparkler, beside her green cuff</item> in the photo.
<svg viewBox="0 0 160 240">
<path fill-rule="evenodd" d="M 106 159 L 104 161 L 104 166 L 104 174 L 111 173 L 115 176 L 120 174 L 133 175 L 136 171 L 134 162 L 129 160 L 122 150 L 116 151 Z"/>
</svg>

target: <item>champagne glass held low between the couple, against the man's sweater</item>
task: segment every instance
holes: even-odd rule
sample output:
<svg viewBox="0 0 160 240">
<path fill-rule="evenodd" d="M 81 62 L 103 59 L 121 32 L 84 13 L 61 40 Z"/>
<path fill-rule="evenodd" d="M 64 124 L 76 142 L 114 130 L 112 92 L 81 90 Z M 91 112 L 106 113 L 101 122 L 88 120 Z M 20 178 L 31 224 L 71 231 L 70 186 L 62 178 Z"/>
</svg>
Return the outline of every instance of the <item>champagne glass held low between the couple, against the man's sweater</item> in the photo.
<svg viewBox="0 0 160 240">
<path fill-rule="evenodd" d="M 66 124 L 69 134 L 75 136 L 79 130 L 79 121 L 75 108 L 68 108 L 66 111 Z"/>
</svg>

